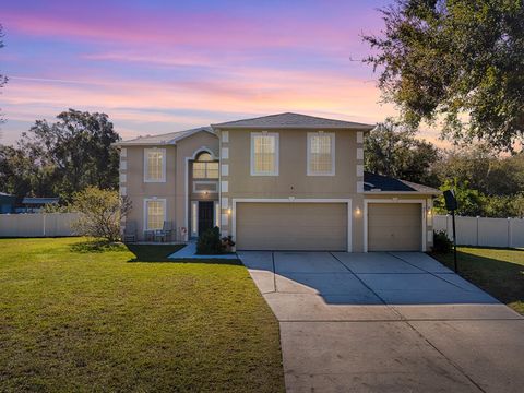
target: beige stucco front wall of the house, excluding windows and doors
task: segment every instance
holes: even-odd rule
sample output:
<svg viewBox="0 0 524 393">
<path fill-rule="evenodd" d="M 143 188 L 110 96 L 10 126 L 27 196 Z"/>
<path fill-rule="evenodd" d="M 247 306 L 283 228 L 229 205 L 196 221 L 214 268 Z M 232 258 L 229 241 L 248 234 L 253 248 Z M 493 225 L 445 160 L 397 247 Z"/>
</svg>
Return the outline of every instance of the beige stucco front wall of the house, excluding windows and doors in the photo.
<svg viewBox="0 0 524 393">
<path fill-rule="evenodd" d="M 167 219 L 172 222 L 180 238 L 180 228 L 190 230 L 190 203 L 192 200 L 216 200 L 218 195 L 192 193 L 190 163 L 200 151 L 209 151 L 221 157 L 221 183 L 227 191 L 221 196 L 221 229 L 231 233 L 234 199 L 350 199 L 353 251 L 364 251 L 365 199 L 417 199 L 432 205 L 431 195 L 406 195 L 364 193 L 364 135 L 359 131 L 337 130 L 335 133 L 335 176 L 307 176 L 307 134 L 314 130 L 271 130 L 279 133 L 279 176 L 251 176 L 251 130 L 225 130 L 227 138 L 217 138 L 209 132 L 199 132 L 178 141 L 177 145 L 157 145 L 166 148 L 166 182 L 144 182 L 144 148 L 154 146 L 122 147 L 120 187 L 130 198 L 133 209 L 128 216 L 135 221 L 139 239 L 143 239 L 144 199 L 166 199 Z M 326 131 L 327 132 L 327 131 Z M 358 136 L 357 136 L 358 135 Z M 227 154 L 227 157 L 223 154 Z M 223 168 L 226 166 L 227 168 Z M 221 184 L 219 183 L 219 184 Z M 432 246 L 432 217 L 426 221 L 427 248 Z M 430 235 L 431 234 L 431 235 Z"/>
</svg>

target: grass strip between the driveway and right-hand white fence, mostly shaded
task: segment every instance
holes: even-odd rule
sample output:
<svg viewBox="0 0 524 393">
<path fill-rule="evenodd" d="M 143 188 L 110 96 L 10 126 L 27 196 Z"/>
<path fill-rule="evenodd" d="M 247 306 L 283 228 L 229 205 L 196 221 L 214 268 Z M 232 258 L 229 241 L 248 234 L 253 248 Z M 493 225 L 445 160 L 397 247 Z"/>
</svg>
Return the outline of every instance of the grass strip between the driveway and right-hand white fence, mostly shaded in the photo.
<svg viewBox="0 0 524 393">
<path fill-rule="evenodd" d="M 453 253 L 433 258 L 453 269 Z M 524 314 L 524 251 L 457 248 L 458 273 L 516 312 Z"/>
</svg>

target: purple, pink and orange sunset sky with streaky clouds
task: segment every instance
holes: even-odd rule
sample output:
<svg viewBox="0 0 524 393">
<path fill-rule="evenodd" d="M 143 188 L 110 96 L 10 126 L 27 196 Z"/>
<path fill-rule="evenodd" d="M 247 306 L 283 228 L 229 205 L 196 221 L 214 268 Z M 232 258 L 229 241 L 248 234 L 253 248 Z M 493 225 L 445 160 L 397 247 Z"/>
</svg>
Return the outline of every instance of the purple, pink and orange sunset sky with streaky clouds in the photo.
<svg viewBox="0 0 524 393">
<path fill-rule="evenodd" d="M 381 121 L 395 110 L 352 58 L 386 3 L 7 0 L 0 142 L 70 107 L 108 114 L 123 139 L 283 111 Z"/>
</svg>

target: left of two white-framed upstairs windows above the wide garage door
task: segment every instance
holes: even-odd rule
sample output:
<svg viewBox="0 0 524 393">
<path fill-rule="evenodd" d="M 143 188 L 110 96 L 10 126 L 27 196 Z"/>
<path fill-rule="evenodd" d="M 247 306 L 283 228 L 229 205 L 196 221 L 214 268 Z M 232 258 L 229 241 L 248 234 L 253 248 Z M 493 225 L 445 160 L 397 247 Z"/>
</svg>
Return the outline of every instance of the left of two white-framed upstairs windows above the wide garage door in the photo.
<svg viewBox="0 0 524 393">
<path fill-rule="evenodd" d="M 278 176 L 278 133 L 251 133 L 251 176 Z"/>
</svg>

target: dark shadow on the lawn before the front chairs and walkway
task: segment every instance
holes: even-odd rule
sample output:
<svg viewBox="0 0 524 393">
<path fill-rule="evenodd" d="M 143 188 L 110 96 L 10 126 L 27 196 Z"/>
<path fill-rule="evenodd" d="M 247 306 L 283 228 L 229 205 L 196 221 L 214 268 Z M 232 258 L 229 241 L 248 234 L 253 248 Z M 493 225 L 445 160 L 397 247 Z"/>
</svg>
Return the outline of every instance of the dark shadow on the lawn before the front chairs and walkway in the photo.
<svg viewBox="0 0 524 393">
<path fill-rule="evenodd" d="M 135 258 L 128 262 L 169 262 L 169 263 L 213 263 L 213 264 L 229 264 L 241 265 L 240 260 L 236 259 L 169 259 L 168 257 L 174 252 L 180 250 L 183 245 L 126 245 L 124 246 Z"/>
</svg>

